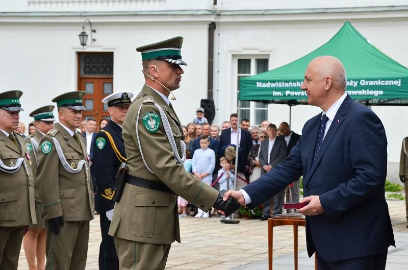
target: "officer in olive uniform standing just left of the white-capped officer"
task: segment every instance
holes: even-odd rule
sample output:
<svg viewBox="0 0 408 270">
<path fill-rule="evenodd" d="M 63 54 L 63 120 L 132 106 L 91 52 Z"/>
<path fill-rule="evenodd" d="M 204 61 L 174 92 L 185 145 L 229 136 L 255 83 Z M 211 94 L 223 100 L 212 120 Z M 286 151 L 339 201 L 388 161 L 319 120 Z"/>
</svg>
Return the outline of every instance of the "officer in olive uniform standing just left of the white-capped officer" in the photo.
<svg viewBox="0 0 408 270">
<path fill-rule="evenodd" d="M 45 269 L 85 269 L 89 220 L 94 197 L 81 126 L 82 96 L 73 91 L 55 97 L 59 123 L 45 134 L 37 152 L 36 179 L 47 222 Z"/>
</svg>

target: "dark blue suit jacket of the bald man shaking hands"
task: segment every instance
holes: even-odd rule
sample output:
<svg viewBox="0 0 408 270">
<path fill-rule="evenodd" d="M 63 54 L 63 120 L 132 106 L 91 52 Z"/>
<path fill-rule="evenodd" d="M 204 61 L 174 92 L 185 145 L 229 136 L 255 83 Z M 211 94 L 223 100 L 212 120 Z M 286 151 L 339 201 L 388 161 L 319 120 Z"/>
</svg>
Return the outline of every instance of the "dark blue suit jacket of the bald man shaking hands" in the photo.
<svg viewBox="0 0 408 270">
<path fill-rule="evenodd" d="M 375 255 L 395 246 L 385 200 L 387 138 L 371 109 L 347 95 L 312 166 L 321 113 L 306 122 L 288 158 L 244 187 L 257 206 L 303 175 L 304 197 L 324 213 L 306 217 L 309 256 L 326 261 Z"/>
</svg>

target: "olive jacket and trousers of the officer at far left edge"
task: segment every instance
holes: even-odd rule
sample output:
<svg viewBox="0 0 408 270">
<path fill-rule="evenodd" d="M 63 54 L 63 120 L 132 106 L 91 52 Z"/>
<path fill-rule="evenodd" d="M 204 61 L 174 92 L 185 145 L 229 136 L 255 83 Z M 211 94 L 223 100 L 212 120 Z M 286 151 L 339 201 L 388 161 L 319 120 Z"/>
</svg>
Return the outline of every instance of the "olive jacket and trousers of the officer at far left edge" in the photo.
<svg viewBox="0 0 408 270">
<path fill-rule="evenodd" d="M 17 269 L 24 226 L 36 224 L 34 182 L 24 139 L 13 132 L 18 147 L 0 131 L 0 270 Z M 18 170 L 7 172 L 17 165 Z"/>
</svg>

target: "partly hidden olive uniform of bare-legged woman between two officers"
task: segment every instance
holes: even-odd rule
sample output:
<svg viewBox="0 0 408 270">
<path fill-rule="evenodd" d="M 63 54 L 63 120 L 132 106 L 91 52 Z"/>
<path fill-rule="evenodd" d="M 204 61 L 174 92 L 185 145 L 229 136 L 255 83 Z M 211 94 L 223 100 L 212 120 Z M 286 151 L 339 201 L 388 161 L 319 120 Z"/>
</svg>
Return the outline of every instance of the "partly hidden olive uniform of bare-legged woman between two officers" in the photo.
<svg viewBox="0 0 408 270">
<path fill-rule="evenodd" d="M 33 178 L 37 171 L 37 150 L 38 145 L 42 138 L 42 133 L 38 130 L 34 131 L 34 133 L 25 140 L 25 146 L 27 147 L 27 151 L 30 154 L 31 162 L 32 162 L 32 170 L 33 170 Z M 34 140 L 34 142 L 32 141 Z M 42 201 L 40 198 L 40 194 L 38 192 L 38 181 L 34 178 L 34 187 L 35 187 L 35 212 L 37 217 L 37 224 L 30 225 L 30 228 L 33 229 L 45 229 L 45 222 L 44 218 L 42 217 Z"/>
</svg>

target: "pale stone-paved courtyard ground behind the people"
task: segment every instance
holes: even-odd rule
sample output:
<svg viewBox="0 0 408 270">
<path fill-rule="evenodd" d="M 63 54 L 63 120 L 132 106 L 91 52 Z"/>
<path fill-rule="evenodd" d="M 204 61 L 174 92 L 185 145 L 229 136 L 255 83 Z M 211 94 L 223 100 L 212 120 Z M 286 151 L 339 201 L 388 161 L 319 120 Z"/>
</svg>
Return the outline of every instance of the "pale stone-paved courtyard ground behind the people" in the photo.
<svg viewBox="0 0 408 270">
<path fill-rule="evenodd" d="M 408 262 L 408 229 L 405 228 L 405 202 L 387 200 L 397 248 L 391 247 L 387 269 L 406 270 Z M 267 222 L 240 220 L 238 225 L 220 223 L 219 217 L 180 219 L 182 243 L 173 243 L 168 270 L 263 270 L 268 268 Z M 100 243 L 99 216 L 90 225 L 87 270 L 98 269 Z M 305 233 L 299 227 L 299 269 L 314 269 L 314 260 L 305 251 Z M 274 228 L 273 269 L 293 268 L 293 229 Z M 19 258 L 20 270 L 28 270 L 24 251 Z"/>
</svg>

